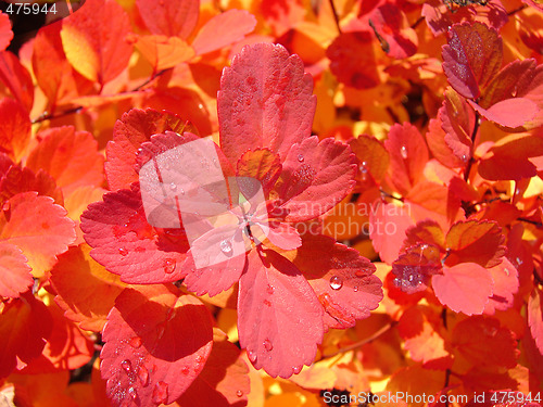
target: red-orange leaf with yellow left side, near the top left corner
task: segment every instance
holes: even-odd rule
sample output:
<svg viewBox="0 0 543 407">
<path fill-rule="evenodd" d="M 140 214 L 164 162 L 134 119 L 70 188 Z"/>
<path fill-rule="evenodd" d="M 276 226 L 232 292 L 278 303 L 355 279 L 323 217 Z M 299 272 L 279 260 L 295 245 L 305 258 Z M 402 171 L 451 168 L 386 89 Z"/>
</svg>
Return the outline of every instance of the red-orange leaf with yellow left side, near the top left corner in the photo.
<svg viewBox="0 0 543 407">
<path fill-rule="evenodd" d="M 125 37 L 130 29 L 128 14 L 117 2 L 87 0 L 62 23 L 66 59 L 83 76 L 103 86 L 128 65 L 132 46 Z"/>
</svg>

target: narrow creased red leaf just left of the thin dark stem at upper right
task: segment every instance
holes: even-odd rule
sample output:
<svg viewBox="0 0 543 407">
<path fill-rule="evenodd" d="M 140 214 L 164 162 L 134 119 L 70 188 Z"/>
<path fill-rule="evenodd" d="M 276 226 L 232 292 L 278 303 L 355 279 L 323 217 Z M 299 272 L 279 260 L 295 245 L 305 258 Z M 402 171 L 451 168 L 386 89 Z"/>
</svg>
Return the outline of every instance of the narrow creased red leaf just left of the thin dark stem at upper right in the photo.
<svg viewBox="0 0 543 407">
<path fill-rule="evenodd" d="M 454 91 L 445 91 L 445 100 L 439 110 L 441 127 L 445 131 L 445 143 L 463 165 L 471 158 L 471 133 L 476 116 L 466 100 Z"/>
</svg>

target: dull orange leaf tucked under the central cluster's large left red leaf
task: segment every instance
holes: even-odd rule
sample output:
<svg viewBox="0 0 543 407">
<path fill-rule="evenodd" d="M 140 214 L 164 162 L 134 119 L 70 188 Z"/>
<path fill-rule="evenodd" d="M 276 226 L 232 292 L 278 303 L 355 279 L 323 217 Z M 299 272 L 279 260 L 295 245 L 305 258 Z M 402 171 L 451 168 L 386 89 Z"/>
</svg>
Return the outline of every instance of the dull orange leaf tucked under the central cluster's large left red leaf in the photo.
<svg viewBox="0 0 543 407">
<path fill-rule="evenodd" d="M 51 270 L 51 282 L 65 317 L 81 329 L 99 332 L 126 284 L 92 260 L 89 252 L 87 244 L 71 247 Z"/>
</svg>

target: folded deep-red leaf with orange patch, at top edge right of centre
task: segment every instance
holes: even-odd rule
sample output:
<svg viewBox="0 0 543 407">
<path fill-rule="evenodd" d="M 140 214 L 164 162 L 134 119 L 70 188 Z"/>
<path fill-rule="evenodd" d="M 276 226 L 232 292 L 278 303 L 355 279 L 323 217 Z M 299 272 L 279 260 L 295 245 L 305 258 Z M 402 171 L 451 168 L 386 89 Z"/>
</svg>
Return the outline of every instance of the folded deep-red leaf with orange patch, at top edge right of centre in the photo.
<svg viewBox="0 0 543 407">
<path fill-rule="evenodd" d="M 395 59 L 403 59 L 417 52 L 417 34 L 409 27 L 407 17 L 393 3 L 384 3 L 371 13 L 371 22 L 376 33 L 384 40 L 383 51 Z"/>
</svg>

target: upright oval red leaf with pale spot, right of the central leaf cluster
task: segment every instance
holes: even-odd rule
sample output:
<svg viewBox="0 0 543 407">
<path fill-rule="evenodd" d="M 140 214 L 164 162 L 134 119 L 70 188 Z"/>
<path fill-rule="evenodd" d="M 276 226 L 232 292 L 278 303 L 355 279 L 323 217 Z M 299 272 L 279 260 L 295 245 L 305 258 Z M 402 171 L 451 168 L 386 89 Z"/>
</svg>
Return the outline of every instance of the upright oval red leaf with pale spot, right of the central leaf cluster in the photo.
<svg viewBox="0 0 543 407">
<path fill-rule="evenodd" d="M 384 148 L 390 154 L 391 182 L 406 194 L 418 182 L 428 162 L 428 148 L 418 129 L 408 124 L 395 124 L 389 131 Z"/>
</svg>

